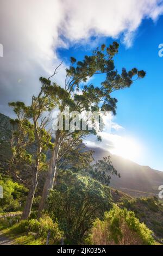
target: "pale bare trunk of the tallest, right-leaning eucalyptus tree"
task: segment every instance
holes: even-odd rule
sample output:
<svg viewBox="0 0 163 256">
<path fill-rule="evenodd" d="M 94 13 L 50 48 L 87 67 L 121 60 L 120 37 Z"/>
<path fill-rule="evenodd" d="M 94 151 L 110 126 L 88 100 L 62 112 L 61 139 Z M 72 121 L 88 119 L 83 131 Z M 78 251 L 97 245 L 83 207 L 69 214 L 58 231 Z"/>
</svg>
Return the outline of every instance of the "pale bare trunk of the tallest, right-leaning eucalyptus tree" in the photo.
<svg viewBox="0 0 163 256">
<path fill-rule="evenodd" d="M 54 186 L 54 178 L 55 178 L 55 172 L 57 170 L 57 160 L 58 160 L 60 145 L 61 145 L 60 139 L 56 139 L 55 147 L 53 149 L 52 158 L 49 164 L 49 169 L 48 169 L 48 173 L 47 173 L 45 185 L 43 187 L 42 197 L 39 205 L 39 214 L 38 214 L 39 217 L 41 216 L 42 210 L 45 209 L 45 203 L 49 194 L 49 190 L 52 190 Z"/>
</svg>

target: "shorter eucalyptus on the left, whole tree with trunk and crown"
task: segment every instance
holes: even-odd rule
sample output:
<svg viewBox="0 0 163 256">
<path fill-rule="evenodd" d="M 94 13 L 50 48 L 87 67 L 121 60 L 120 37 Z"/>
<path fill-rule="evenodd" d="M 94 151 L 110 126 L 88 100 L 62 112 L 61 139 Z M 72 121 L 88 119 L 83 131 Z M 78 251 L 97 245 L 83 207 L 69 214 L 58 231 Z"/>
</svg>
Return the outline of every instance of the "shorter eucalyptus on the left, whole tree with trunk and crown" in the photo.
<svg viewBox="0 0 163 256">
<path fill-rule="evenodd" d="M 52 95 L 49 96 L 45 92 L 43 78 L 40 78 L 40 82 L 42 83 L 40 93 L 32 97 L 30 106 L 25 106 L 23 102 L 9 103 L 9 106 L 14 108 L 18 118 L 12 120 L 12 124 L 16 124 L 16 130 L 12 139 L 11 166 L 13 168 L 14 162 L 19 164 L 20 161 L 26 160 L 27 163 L 28 160 L 32 167 L 32 180 L 30 181 L 22 219 L 26 219 L 30 215 L 38 183 L 38 174 L 47 164 L 45 153 L 49 148 L 53 148 L 51 129 L 49 129 L 48 124 L 51 121 L 51 111 L 57 103 L 57 98 L 52 97 Z M 31 152 L 32 149 L 33 152 Z"/>
</svg>

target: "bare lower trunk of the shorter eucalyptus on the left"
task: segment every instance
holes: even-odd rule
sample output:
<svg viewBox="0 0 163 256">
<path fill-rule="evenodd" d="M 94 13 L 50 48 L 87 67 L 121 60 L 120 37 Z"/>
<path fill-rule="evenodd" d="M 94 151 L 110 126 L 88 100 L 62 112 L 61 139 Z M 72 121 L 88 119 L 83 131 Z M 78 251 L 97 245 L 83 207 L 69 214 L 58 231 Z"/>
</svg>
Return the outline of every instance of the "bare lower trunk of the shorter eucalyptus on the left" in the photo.
<svg viewBox="0 0 163 256">
<path fill-rule="evenodd" d="M 29 188 L 26 205 L 24 206 L 24 210 L 22 213 L 22 220 L 26 220 L 30 216 L 32 205 L 33 205 L 33 200 L 34 200 L 34 196 L 35 196 L 35 191 L 36 191 L 36 187 L 38 184 L 37 176 L 38 176 L 38 168 L 36 167 L 34 169 L 32 185 Z"/>
</svg>

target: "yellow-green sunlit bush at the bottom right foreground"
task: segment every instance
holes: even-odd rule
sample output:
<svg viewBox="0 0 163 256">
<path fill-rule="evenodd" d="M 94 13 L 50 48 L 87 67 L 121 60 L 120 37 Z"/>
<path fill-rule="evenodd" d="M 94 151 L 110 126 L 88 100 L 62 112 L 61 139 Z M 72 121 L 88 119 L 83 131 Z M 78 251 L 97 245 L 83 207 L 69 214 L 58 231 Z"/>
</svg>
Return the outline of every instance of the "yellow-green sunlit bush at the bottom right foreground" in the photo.
<svg viewBox="0 0 163 256">
<path fill-rule="evenodd" d="M 88 236 L 93 245 L 153 245 L 152 231 L 140 223 L 134 212 L 117 205 L 105 213 L 104 221 L 97 219 Z"/>
</svg>

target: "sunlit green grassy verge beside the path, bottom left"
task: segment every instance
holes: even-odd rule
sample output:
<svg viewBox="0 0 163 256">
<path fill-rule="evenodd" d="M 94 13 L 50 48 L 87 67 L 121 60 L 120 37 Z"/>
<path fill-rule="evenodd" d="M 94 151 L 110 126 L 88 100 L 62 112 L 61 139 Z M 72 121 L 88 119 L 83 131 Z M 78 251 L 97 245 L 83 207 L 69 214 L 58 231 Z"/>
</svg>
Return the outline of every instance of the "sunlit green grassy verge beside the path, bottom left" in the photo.
<svg viewBox="0 0 163 256">
<path fill-rule="evenodd" d="M 46 245 L 48 231 L 49 245 L 57 245 L 62 236 L 58 224 L 48 216 L 26 221 L 20 221 L 20 216 L 1 218 L 0 231 L 1 235 L 11 240 L 12 245 Z"/>
</svg>

